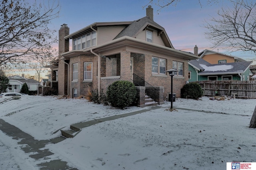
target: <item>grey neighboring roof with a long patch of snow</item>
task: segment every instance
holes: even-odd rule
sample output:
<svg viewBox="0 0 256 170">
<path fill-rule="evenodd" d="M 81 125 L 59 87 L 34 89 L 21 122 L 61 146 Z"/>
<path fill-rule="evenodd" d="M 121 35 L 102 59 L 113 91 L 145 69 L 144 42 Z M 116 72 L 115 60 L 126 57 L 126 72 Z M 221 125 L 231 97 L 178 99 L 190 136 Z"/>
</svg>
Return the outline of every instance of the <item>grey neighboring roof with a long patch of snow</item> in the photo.
<svg viewBox="0 0 256 170">
<path fill-rule="evenodd" d="M 204 68 L 204 71 L 198 73 L 198 75 L 244 73 L 251 64 L 252 61 L 208 65 L 200 64 Z"/>
</svg>

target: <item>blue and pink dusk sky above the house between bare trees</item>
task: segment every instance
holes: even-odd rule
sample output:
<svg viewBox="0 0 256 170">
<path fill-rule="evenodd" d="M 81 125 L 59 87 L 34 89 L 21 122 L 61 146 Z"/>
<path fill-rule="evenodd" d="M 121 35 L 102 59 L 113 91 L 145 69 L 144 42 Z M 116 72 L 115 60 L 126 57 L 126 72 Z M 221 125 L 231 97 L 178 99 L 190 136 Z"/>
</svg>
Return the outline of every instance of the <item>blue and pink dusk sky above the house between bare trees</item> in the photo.
<svg viewBox="0 0 256 170">
<path fill-rule="evenodd" d="M 30 0 L 32 1 L 34 0 Z M 146 7 L 151 5 L 154 9 L 154 21 L 165 28 L 175 49 L 193 53 L 194 46 L 197 45 L 198 52 L 210 49 L 243 59 L 256 59 L 254 53 L 230 53 L 221 48 L 210 48 L 210 41 L 204 36 L 207 31 L 203 27 L 204 21 L 209 20 L 210 16 L 216 16 L 216 10 L 222 3 L 207 5 L 206 0 L 201 0 L 200 6 L 198 0 L 181 0 L 176 6 L 158 11 L 158 6 L 148 2 L 149 0 L 60 0 L 59 17 L 52 20 L 50 28 L 55 29 L 58 35 L 63 23 L 68 24 L 70 33 L 73 33 L 94 22 L 134 21 L 146 16 Z M 146 7 L 143 8 L 144 6 Z"/>
</svg>

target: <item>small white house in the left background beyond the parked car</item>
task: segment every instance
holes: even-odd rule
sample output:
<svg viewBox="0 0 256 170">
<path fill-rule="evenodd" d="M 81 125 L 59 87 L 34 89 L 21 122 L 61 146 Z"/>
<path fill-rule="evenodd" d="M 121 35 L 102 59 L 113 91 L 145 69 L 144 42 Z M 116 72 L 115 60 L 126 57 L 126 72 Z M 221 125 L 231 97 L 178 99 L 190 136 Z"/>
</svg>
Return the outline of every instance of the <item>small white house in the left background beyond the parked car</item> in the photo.
<svg viewBox="0 0 256 170">
<path fill-rule="evenodd" d="M 22 76 L 16 75 L 16 76 L 10 76 L 9 79 L 9 87 L 7 89 L 7 92 L 20 92 L 20 89 L 22 88 L 22 85 L 26 83 L 28 85 L 28 90 L 34 91 L 38 90 L 38 81 L 34 79 L 27 79 L 24 78 L 24 74 Z"/>
</svg>

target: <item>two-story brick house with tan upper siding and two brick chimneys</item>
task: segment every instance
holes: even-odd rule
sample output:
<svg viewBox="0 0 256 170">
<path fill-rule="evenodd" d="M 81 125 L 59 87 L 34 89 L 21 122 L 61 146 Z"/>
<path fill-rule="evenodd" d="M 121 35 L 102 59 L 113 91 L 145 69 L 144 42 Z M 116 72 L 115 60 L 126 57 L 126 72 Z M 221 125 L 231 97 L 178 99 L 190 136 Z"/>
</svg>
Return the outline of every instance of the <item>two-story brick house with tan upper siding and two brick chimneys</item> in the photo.
<svg viewBox="0 0 256 170">
<path fill-rule="evenodd" d="M 197 58 L 174 49 L 148 6 L 146 17 L 135 21 L 96 22 L 71 34 L 63 24 L 58 67 L 55 63 L 52 80 L 58 72 L 58 93 L 76 97 L 85 95 L 88 86 L 106 92 L 114 81 L 136 77 L 161 91 L 161 103 L 171 91 L 170 76 L 165 71 L 179 70 L 173 77 L 173 92 L 180 97 L 180 89 L 188 81 L 188 61 Z"/>
</svg>

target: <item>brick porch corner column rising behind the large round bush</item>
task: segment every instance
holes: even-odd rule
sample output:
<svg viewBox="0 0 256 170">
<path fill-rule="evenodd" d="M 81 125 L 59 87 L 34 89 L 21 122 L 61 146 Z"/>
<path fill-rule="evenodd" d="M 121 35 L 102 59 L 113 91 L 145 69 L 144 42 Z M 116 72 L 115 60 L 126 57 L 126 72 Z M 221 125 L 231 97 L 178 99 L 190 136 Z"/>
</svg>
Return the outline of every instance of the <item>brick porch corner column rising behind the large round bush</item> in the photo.
<svg viewBox="0 0 256 170">
<path fill-rule="evenodd" d="M 130 51 L 122 51 L 120 53 L 120 79 L 121 80 L 128 80 L 130 81 L 130 58 L 131 52 Z"/>
</svg>

